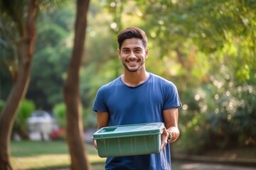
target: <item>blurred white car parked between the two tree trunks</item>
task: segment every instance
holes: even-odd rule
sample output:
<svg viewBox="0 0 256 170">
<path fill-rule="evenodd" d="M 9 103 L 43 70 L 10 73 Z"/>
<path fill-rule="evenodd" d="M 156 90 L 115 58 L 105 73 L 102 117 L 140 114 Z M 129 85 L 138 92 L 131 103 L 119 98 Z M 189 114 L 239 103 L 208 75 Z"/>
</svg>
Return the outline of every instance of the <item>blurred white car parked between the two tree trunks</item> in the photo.
<svg viewBox="0 0 256 170">
<path fill-rule="evenodd" d="M 27 123 L 28 135 L 31 140 L 49 140 L 55 119 L 46 111 L 33 111 Z"/>
</svg>

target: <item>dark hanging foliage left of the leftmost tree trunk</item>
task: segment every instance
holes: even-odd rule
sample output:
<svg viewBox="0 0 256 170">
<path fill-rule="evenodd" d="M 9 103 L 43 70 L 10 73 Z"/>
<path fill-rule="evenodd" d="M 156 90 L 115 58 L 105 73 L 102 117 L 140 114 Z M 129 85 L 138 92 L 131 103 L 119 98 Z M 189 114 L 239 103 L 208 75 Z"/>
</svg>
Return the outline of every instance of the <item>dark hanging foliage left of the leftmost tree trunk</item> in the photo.
<svg viewBox="0 0 256 170">
<path fill-rule="evenodd" d="M 21 29 L 23 24 L 23 16 L 18 15 L 18 13 L 24 13 L 22 7 L 24 4 L 24 1 L 0 2 L 0 71 L 1 74 L 7 72 L 8 77 L 11 76 L 11 80 L 15 79 L 15 75 L 18 70 L 16 41 L 18 33 L 22 32 Z M 13 11 L 14 6 L 16 8 L 15 11 Z M 9 22 L 10 20 L 12 22 Z M 6 76 L 3 77 L 4 81 L 6 81 Z M 6 82 L 8 82 L 8 80 L 9 79 L 7 79 Z M 10 87 L 4 86 L 4 88 L 9 89 Z M 5 94 L 4 96 L 7 95 Z"/>
</svg>

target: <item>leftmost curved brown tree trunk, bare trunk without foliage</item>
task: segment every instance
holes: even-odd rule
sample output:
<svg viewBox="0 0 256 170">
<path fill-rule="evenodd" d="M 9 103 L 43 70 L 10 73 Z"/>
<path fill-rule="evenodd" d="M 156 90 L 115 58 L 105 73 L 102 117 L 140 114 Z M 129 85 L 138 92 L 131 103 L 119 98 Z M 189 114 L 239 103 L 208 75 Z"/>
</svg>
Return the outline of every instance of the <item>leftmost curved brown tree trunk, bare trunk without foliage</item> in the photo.
<svg viewBox="0 0 256 170">
<path fill-rule="evenodd" d="M 37 0 L 28 1 L 28 21 L 24 28 L 25 37 L 18 46 L 21 55 L 21 66 L 18 70 L 16 81 L 11 89 L 11 93 L 6 101 L 6 106 L 0 117 L 0 169 L 11 170 L 9 143 L 11 140 L 11 130 L 14 126 L 16 111 L 21 100 L 26 94 L 30 81 L 31 60 L 36 39 L 35 18 L 38 6 Z"/>
</svg>

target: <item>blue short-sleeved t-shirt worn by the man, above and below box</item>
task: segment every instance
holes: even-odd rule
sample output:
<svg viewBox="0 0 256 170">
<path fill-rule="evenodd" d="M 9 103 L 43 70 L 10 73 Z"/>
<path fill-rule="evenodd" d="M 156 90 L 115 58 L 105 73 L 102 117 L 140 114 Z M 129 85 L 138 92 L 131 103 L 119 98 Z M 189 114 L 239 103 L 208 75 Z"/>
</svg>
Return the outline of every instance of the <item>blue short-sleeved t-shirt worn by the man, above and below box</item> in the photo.
<svg viewBox="0 0 256 170">
<path fill-rule="evenodd" d="M 102 86 L 92 106 L 93 111 L 110 114 L 109 125 L 129 125 L 137 123 L 164 123 L 163 111 L 181 107 L 176 86 L 155 74 L 139 86 L 131 87 L 123 83 L 121 77 Z M 169 145 L 157 154 L 129 157 L 107 157 L 105 169 L 171 169 Z"/>
</svg>

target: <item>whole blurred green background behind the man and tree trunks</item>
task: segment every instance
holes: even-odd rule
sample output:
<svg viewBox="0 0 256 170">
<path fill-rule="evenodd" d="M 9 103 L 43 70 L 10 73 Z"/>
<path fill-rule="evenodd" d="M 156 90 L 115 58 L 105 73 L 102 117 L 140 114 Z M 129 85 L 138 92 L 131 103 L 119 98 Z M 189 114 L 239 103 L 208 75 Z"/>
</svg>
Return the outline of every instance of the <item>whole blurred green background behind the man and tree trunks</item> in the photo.
<svg viewBox="0 0 256 170">
<path fill-rule="evenodd" d="M 31 82 L 18 108 L 13 142 L 65 140 L 62 91 L 73 50 L 76 6 L 63 1 L 42 9 L 36 19 Z M 85 141 L 92 142 L 97 125 L 92 111 L 97 89 L 123 71 L 117 34 L 136 26 L 148 36 L 147 71 L 173 81 L 183 103 L 174 155 L 256 157 L 256 1 L 91 0 L 87 15 L 80 70 Z M 0 19 L 1 111 L 19 57 L 14 47 L 17 30 L 4 13 Z"/>
</svg>

